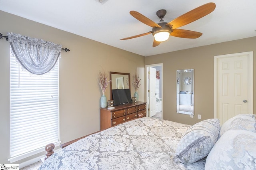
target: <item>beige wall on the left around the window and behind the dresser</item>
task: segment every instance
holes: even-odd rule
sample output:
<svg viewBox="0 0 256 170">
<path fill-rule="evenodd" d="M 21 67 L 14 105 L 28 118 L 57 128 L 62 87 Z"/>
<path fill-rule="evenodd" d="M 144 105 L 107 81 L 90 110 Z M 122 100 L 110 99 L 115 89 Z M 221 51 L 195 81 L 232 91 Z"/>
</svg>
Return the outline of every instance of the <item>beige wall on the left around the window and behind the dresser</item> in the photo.
<svg viewBox="0 0 256 170">
<path fill-rule="evenodd" d="M 68 142 L 100 130 L 99 71 L 130 73 L 137 70 L 144 87 L 144 57 L 81 36 L 0 11 L 0 33 L 15 32 L 62 44 L 70 49 L 60 58 L 60 140 Z M 0 163 L 9 158 L 9 43 L 0 40 Z M 131 88 L 132 95 L 134 87 Z M 144 101 L 144 89 L 139 89 Z M 106 90 L 110 99 L 110 89 Z M 36 156 L 43 155 L 44 153 Z M 35 157 L 35 156 L 34 156 Z M 30 157 L 32 158 L 32 157 Z M 30 159 L 28 158 L 28 159 Z M 28 160 L 26 159 L 26 160 Z M 25 160 L 19 161 L 23 162 Z M 19 163 L 17 162 L 17 163 Z"/>
</svg>

